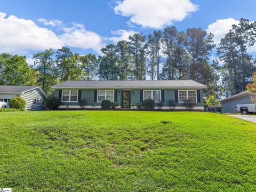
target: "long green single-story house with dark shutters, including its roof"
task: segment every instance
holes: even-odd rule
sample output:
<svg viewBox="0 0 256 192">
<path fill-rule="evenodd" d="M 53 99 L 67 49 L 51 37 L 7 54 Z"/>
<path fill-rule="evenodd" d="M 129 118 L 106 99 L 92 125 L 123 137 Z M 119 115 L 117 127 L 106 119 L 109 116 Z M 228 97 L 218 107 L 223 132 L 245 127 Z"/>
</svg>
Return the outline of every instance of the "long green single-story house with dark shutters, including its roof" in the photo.
<svg viewBox="0 0 256 192">
<path fill-rule="evenodd" d="M 87 101 L 86 108 L 100 108 L 102 100 L 117 102 L 119 108 L 130 108 L 131 103 L 145 99 L 163 101 L 163 109 L 169 109 L 169 99 L 177 102 L 175 109 L 184 110 L 184 101 L 196 102 L 195 110 L 204 110 L 205 85 L 192 80 L 173 81 L 67 81 L 52 86 L 55 97 L 61 99 L 60 108 L 80 108 L 78 100 Z"/>
</svg>

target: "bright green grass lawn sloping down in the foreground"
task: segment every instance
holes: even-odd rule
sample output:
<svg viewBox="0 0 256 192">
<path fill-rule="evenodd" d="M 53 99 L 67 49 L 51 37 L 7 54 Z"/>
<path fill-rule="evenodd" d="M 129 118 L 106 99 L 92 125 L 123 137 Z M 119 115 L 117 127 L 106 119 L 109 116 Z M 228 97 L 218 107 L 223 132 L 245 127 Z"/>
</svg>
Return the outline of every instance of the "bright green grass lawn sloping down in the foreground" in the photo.
<svg viewBox="0 0 256 192">
<path fill-rule="evenodd" d="M 0 187 L 14 192 L 256 190 L 256 124 L 233 117 L 149 111 L 0 115 Z"/>
</svg>

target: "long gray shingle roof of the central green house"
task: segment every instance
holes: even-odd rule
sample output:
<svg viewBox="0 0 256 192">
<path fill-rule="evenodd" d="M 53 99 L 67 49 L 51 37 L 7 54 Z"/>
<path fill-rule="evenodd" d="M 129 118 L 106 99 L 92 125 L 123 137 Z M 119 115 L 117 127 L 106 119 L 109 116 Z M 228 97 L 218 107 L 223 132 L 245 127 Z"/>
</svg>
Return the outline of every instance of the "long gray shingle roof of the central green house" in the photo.
<svg viewBox="0 0 256 192">
<path fill-rule="evenodd" d="M 53 88 L 186 88 L 204 89 L 205 85 L 192 80 L 168 81 L 66 81 L 52 86 Z"/>
</svg>

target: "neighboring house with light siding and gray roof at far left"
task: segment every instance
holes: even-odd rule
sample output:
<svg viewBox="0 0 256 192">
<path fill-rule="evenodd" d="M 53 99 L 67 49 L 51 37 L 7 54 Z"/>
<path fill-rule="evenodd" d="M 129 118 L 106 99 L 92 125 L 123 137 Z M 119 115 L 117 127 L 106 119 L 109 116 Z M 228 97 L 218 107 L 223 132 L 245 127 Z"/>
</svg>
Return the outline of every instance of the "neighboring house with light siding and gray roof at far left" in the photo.
<svg viewBox="0 0 256 192">
<path fill-rule="evenodd" d="M 26 110 L 44 110 L 45 93 L 39 86 L 0 85 L 0 101 L 7 103 L 14 97 L 20 96 L 26 100 Z"/>
</svg>

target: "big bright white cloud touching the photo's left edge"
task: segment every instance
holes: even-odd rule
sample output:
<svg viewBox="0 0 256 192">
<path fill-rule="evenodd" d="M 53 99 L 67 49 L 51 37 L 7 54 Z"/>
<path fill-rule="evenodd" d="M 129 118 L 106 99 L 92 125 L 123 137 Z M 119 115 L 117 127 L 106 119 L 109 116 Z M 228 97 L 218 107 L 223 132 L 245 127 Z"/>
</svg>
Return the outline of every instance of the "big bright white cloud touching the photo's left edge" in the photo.
<svg viewBox="0 0 256 192">
<path fill-rule="evenodd" d="M 25 54 L 28 50 L 45 50 L 63 46 L 53 31 L 39 27 L 34 21 L 0 13 L 0 52 Z"/>
</svg>

